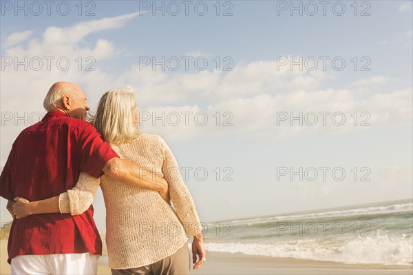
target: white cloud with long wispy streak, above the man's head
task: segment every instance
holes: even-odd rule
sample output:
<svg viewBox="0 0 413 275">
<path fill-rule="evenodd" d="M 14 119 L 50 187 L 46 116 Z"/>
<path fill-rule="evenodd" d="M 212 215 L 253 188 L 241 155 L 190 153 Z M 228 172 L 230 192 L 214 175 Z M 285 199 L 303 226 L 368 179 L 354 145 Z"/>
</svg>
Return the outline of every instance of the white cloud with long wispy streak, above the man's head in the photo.
<svg viewBox="0 0 413 275">
<path fill-rule="evenodd" d="M 7 65 L 5 70 L 2 68 L 2 96 L 8 100 L 15 98 L 15 101 L 24 99 L 19 101 L 21 109 L 30 112 L 39 110 L 45 91 L 55 81 L 62 79 L 74 81 L 82 85 L 85 91 L 93 92 L 101 92 L 102 90 L 98 89 L 102 86 L 106 89 L 112 87 L 111 81 L 114 78 L 109 77 L 94 63 L 116 56 L 116 46 L 106 39 L 97 39 L 94 45 L 89 46 L 85 45 L 83 38 L 92 32 L 120 28 L 138 14 L 134 12 L 118 17 L 84 21 L 67 28 L 50 27 L 41 37 L 31 39 L 26 46 L 17 44 L 6 48 L 2 59 L 8 59 L 12 64 Z M 18 34 L 10 35 L 10 37 L 18 36 Z M 24 65 L 16 66 L 17 61 L 26 62 L 23 62 Z M 69 64 L 67 70 L 65 70 L 66 63 Z M 95 70 L 85 71 L 88 65 Z M 25 81 L 21 81 L 21 72 L 24 72 Z M 89 85 L 89 83 L 93 84 Z M 96 86 L 94 83 L 99 85 Z M 29 100 L 28 92 L 30 92 Z M 10 104 L 5 107 L 8 106 Z"/>
</svg>

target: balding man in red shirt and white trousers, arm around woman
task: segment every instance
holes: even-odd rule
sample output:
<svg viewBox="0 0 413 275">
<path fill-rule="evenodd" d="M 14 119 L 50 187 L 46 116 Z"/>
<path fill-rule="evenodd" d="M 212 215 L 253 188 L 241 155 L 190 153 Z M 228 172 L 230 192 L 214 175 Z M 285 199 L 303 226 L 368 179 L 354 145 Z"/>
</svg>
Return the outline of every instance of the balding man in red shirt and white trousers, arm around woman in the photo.
<svg viewBox="0 0 413 275">
<path fill-rule="evenodd" d="M 80 172 L 87 172 L 157 190 L 167 199 L 166 181 L 142 175 L 141 167 L 119 159 L 85 121 L 89 105 L 78 85 L 54 83 L 43 105 L 47 114 L 42 121 L 23 130 L 12 145 L 0 177 L 0 196 L 9 202 L 17 196 L 50 198 L 72 189 Z M 102 241 L 92 205 L 77 216 L 59 214 L 56 198 L 57 209 L 48 208 L 50 214 L 14 218 L 8 241 L 12 274 L 96 274 Z M 42 210 L 42 205 L 36 207 Z"/>
</svg>

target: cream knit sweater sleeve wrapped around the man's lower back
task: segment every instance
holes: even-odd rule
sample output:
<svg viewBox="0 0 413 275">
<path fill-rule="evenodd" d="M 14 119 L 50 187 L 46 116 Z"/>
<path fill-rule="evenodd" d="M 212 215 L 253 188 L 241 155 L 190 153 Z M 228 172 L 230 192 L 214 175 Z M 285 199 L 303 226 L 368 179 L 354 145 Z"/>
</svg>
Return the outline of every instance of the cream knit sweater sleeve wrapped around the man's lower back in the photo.
<svg viewBox="0 0 413 275">
<path fill-rule="evenodd" d="M 79 215 L 89 209 L 100 184 L 100 178 L 95 179 L 85 172 L 81 172 L 76 186 L 59 196 L 61 213 Z"/>
</svg>

